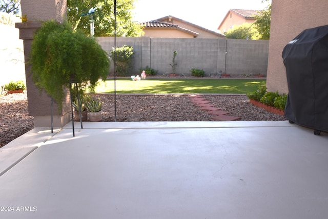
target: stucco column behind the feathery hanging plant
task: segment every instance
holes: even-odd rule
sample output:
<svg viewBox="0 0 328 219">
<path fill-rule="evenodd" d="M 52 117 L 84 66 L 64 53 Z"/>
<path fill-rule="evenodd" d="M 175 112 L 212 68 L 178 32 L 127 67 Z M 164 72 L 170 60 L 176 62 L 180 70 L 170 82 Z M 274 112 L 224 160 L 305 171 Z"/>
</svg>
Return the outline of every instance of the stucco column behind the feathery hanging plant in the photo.
<svg viewBox="0 0 328 219">
<path fill-rule="evenodd" d="M 27 15 L 28 22 L 16 23 L 15 27 L 19 29 L 19 38 L 24 42 L 25 56 L 25 75 L 28 98 L 29 115 L 34 116 L 35 127 L 51 126 L 51 97 L 44 91 L 42 93 L 36 88 L 32 81 L 31 65 L 28 64 L 28 58 L 31 52 L 33 33 L 41 27 L 41 21 L 55 19 L 63 22 L 67 12 L 66 0 L 21 0 L 22 14 Z M 70 121 L 69 118 L 69 99 L 63 104 L 63 109 L 58 111 L 58 107 L 53 102 L 53 126 L 63 127 Z"/>
</svg>

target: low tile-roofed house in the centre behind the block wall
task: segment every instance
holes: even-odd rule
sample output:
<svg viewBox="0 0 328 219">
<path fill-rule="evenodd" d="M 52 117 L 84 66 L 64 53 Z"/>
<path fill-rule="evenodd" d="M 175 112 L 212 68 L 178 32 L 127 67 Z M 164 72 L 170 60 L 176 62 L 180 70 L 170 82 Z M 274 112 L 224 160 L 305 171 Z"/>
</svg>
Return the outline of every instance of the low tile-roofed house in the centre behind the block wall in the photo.
<svg viewBox="0 0 328 219">
<path fill-rule="evenodd" d="M 224 38 L 225 36 L 183 21 L 174 16 L 158 18 L 154 21 L 144 22 L 144 36 L 149 37 L 173 37 L 173 38 Z"/>
</svg>

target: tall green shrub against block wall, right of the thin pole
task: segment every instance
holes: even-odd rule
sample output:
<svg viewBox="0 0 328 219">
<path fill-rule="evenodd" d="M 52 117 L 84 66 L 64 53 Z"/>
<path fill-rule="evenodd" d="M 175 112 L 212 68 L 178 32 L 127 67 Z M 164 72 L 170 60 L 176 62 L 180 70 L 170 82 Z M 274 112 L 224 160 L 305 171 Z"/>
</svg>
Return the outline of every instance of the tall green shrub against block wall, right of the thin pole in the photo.
<svg viewBox="0 0 328 219">
<path fill-rule="evenodd" d="M 111 50 L 111 58 L 114 61 L 114 48 Z M 128 76 L 133 66 L 133 46 L 123 45 L 116 48 L 116 73 L 118 76 Z"/>
</svg>

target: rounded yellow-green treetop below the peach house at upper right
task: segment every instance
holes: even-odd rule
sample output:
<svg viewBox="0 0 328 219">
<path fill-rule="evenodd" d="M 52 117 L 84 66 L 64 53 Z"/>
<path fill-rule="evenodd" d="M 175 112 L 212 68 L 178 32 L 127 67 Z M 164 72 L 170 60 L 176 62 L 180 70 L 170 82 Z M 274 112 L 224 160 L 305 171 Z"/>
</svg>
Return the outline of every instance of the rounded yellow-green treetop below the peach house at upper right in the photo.
<svg viewBox="0 0 328 219">
<path fill-rule="evenodd" d="M 226 38 L 230 39 L 259 39 L 259 33 L 251 23 L 245 23 L 234 27 L 234 29 L 228 30 L 224 34 Z"/>
</svg>

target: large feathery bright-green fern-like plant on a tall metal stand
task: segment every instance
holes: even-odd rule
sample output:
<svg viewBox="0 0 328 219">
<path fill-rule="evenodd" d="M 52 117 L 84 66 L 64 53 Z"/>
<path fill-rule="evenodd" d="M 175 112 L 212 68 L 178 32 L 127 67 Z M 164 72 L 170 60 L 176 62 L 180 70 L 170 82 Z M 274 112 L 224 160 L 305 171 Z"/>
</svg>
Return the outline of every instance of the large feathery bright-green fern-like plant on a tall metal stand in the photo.
<svg viewBox="0 0 328 219">
<path fill-rule="evenodd" d="M 53 97 L 59 110 L 67 95 L 65 87 L 78 83 L 92 91 L 99 78 L 107 78 L 110 67 L 106 51 L 94 38 L 56 21 L 46 21 L 35 32 L 30 64 L 34 84 Z"/>
</svg>

